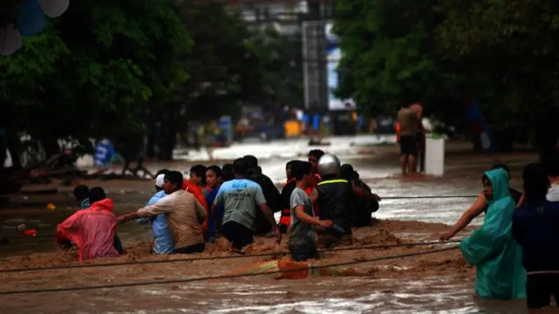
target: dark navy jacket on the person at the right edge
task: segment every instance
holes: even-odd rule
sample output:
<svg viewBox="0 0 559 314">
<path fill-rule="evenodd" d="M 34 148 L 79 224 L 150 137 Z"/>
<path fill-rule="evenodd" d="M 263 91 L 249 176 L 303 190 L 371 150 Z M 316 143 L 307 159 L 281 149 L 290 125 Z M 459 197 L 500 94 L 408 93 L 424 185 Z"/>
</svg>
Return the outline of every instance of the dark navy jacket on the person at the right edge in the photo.
<svg viewBox="0 0 559 314">
<path fill-rule="evenodd" d="M 526 271 L 559 271 L 558 202 L 525 202 L 512 215 L 512 232 Z"/>
</svg>

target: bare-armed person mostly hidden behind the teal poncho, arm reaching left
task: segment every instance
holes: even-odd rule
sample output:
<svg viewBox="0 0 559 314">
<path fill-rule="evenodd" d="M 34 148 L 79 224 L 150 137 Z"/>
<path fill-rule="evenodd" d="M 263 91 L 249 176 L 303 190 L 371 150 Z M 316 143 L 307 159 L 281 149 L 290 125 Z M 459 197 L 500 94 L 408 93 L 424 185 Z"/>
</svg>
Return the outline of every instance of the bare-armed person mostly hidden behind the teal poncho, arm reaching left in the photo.
<svg viewBox="0 0 559 314">
<path fill-rule="evenodd" d="M 507 176 L 509 177 L 510 180 L 511 173 L 507 165 L 503 163 L 496 163 L 495 165 L 493 165 L 493 167 L 491 167 L 491 170 L 495 170 L 495 169 L 502 169 L 506 171 Z M 509 187 L 509 195 L 511 195 L 512 200 L 514 200 L 514 203 L 516 204 L 517 207 L 520 206 L 520 204 L 522 204 L 523 202 L 522 192 Z M 487 201 L 485 193 L 483 192 L 480 193 L 477 197 L 477 200 L 475 200 L 474 204 L 472 204 L 472 206 L 469 209 L 464 211 L 464 213 L 462 214 L 462 216 L 460 216 L 460 218 L 458 219 L 456 224 L 452 227 L 452 229 L 449 232 L 444 232 L 443 234 L 440 235 L 441 241 L 447 241 L 451 239 L 456 234 L 458 234 L 458 232 L 462 231 L 465 227 L 467 227 L 467 225 L 470 225 L 470 223 L 472 223 L 472 220 L 477 218 L 477 216 L 481 215 L 481 213 L 487 211 L 488 203 L 489 202 Z"/>
</svg>

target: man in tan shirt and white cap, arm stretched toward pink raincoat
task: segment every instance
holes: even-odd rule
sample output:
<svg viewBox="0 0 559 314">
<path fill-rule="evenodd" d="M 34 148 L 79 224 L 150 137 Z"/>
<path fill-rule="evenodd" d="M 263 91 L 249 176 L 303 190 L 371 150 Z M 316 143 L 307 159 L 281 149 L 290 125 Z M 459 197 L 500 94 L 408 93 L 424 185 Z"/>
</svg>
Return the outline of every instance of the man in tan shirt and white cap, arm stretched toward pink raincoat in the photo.
<svg viewBox="0 0 559 314">
<path fill-rule="evenodd" d="M 206 210 L 194 195 L 181 189 L 183 177 L 180 172 L 165 174 L 163 189 L 166 196 L 155 204 L 119 216 L 117 220 L 128 221 L 139 217 L 165 214 L 175 247 L 172 254 L 190 254 L 204 251 L 205 241 L 202 223 Z"/>
</svg>

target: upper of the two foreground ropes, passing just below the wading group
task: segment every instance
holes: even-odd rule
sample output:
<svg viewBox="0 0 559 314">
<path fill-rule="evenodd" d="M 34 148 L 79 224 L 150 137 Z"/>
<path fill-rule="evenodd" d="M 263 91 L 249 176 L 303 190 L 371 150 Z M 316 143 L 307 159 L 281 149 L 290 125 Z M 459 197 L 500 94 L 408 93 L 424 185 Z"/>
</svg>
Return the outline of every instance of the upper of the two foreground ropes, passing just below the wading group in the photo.
<svg viewBox="0 0 559 314">
<path fill-rule="evenodd" d="M 430 242 L 414 242 L 409 244 L 385 244 L 385 245 L 375 245 L 375 246 L 360 246 L 354 248 L 333 248 L 330 250 L 319 250 L 319 253 L 326 252 L 338 252 L 338 251 L 358 251 L 358 250 L 373 250 L 379 248 L 400 248 L 405 246 L 430 246 L 435 244 L 449 244 L 449 243 L 459 243 L 460 240 L 454 241 L 430 241 Z M 288 252 L 274 252 L 274 253 L 261 253 L 252 255 L 233 255 L 233 256 L 210 256 L 210 257 L 191 257 L 191 258 L 180 258 L 177 260 L 146 260 L 140 262 L 117 262 L 117 263 L 103 263 L 103 264 L 80 264 L 80 265 L 68 265 L 68 266 L 55 266 L 55 267 L 33 267 L 33 268 L 13 268 L 13 269 L 0 269 L 0 273 L 13 273 L 13 272 L 23 272 L 23 271 L 47 271 L 47 270 L 59 270 L 59 269 L 75 269 L 75 268 L 90 268 L 90 267 L 109 267 L 109 266 L 124 266 L 124 265 L 138 265 L 138 264 L 166 264 L 174 262 L 196 262 L 201 260 L 233 260 L 238 258 L 249 258 L 249 257 L 270 257 L 275 255 L 286 255 Z"/>
</svg>

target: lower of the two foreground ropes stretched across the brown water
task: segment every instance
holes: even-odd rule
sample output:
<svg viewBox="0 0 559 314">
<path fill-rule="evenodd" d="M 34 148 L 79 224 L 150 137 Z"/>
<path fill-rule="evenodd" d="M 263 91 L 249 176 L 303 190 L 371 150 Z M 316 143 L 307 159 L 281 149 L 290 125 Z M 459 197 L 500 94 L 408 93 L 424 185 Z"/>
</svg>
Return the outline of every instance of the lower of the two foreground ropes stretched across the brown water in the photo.
<svg viewBox="0 0 559 314">
<path fill-rule="evenodd" d="M 324 264 L 324 265 L 316 265 L 312 266 L 312 269 L 323 269 L 328 267 L 342 267 L 342 266 L 349 266 L 355 264 L 364 264 L 368 262 L 378 262 L 382 260 L 396 260 L 398 258 L 405 258 L 405 257 L 414 257 L 419 255 L 428 255 L 434 253 L 440 253 L 444 251 L 451 251 L 456 250 L 458 246 L 452 246 L 451 248 L 439 248 L 436 250 L 418 252 L 418 253 L 407 253 L 407 254 L 399 254 L 399 255 L 389 255 L 384 257 L 376 257 L 367 260 L 358 260 L 358 261 L 351 261 L 351 262 L 339 262 L 333 264 Z M 43 292 L 65 292 L 65 291 L 83 291 L 83 290 L 97 290 L 97 289 L 112 289 L 112 288 L 121 288 L 121 287 L 139 287 L 139 286 L 146 286 L 146 285 L 165 285 L 170 283 L 191 283 L 193 281 L 209 281 L 209 280 L 219 280 L 219 279 L 231 279 L 231 278 L 244 278 L 244 277 L 254 277 L 254 276 L 263 276 L 263 275 L 272 275 L 272 274 L 283 274 L 286 272 L 292 271 L 302 271 L 305 269 L 309 269 L 308 267 L 299 267 L 296 269 L 286 269 L 282 271 L 262 271 L 259 273 L 245 273 L 245 274 L 235 274 L 235 275 L 222 275 L 222 276 L 202 276 L 202 277 L 194 277 L 194 278 L 184 278 L 180 280 L 173 280 L 173 281 L 147 281 L 143 283 L 120 283 L 115 285 L 90 285 L 90 286 L 82 286 L 82 287 L 61 287 L 61 288 L 46 288 L 46 289 L 29 289 L 29 290 L 8 290 L 8 291 L 0 291 L 0 295 L 8 295 L 8 294 L 31 294 L 31 293 L 43 293 Z"/>
</svg>

